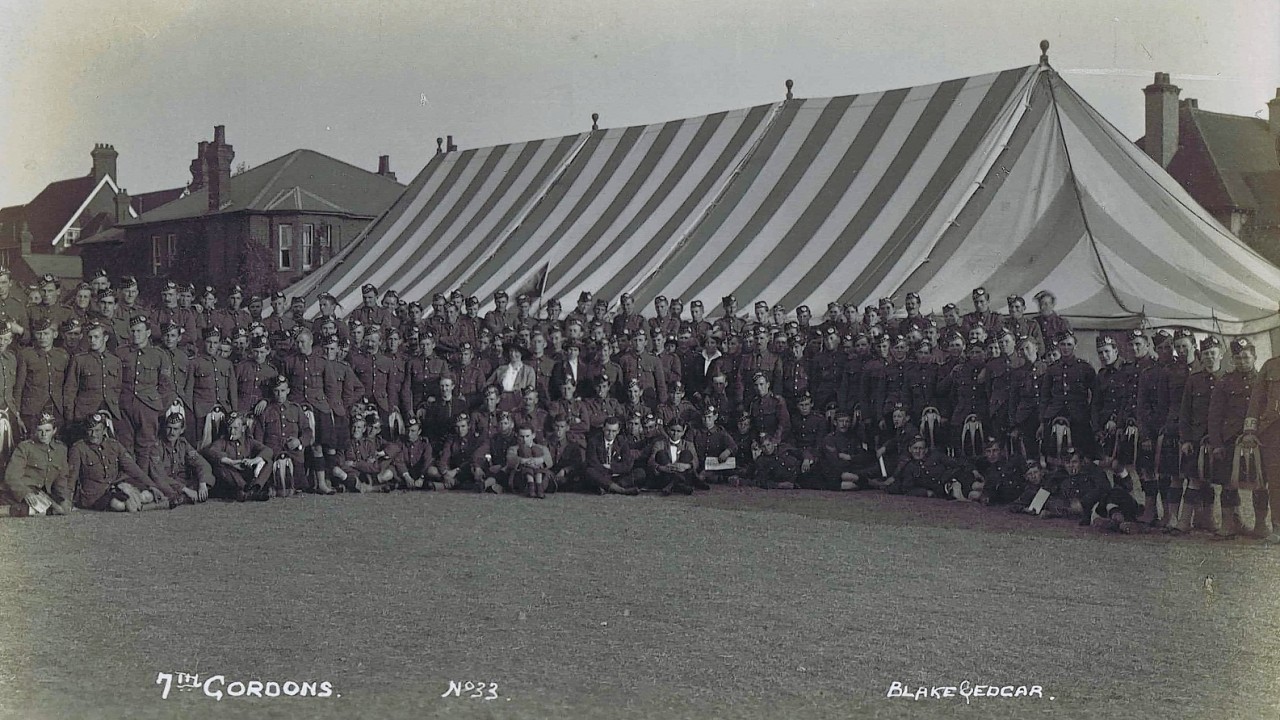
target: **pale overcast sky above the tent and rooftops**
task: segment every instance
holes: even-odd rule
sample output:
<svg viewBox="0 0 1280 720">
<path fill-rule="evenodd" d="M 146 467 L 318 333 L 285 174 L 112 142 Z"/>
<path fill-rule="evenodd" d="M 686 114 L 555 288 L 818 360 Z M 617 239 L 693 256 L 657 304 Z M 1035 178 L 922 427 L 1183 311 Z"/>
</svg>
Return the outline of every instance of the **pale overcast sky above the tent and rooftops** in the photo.
<svg viewBox="0 0 1280 720">
<path fill-rule="evenodd" d="M 315 4 L 319 5 L 319 4 Z M 227 126 L 236 161 L 308 147 L 408 182 L 462 147 L 1037 61 L 1142 135 L 1172 73 L 1202 109 L 1266 117 L 1277 0 L 0 0 L 0 205 L 119 151 L 132 193 L 189 182 Z"/>
</svg>

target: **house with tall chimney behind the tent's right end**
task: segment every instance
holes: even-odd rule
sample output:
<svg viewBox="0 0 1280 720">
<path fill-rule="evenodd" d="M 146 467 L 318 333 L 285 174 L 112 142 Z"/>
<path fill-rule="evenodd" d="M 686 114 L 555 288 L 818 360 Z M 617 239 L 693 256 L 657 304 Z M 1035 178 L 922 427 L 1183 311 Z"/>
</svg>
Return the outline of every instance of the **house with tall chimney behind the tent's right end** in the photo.
<svg viewBox="0 0 1280 720">
<path fill-rule="evenodd" d="M 1202 110 L 1169 73 L 1146 95 L 1138 146 L 1231 233 L 1280 264 L 1280 88 L 1267 118 Z"/>
</svg>

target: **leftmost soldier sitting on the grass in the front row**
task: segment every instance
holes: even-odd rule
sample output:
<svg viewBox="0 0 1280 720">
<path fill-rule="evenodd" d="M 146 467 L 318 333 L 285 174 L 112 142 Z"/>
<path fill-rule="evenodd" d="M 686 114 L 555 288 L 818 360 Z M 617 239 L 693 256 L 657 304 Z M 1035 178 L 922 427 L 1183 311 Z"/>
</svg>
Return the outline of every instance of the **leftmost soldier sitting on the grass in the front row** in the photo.
<svg viewBox="0 0 1280 720">
<path fill-rule="evenodd" d="M 68 475 L 67 446 L 55 439 L 58 423 L 49 413 L 32 420 L 32 438 L 18 443 L 4 473 L 4 502 L 9 514 L 68 515 L 72 511 L 72 483 Z"/>
</svg>

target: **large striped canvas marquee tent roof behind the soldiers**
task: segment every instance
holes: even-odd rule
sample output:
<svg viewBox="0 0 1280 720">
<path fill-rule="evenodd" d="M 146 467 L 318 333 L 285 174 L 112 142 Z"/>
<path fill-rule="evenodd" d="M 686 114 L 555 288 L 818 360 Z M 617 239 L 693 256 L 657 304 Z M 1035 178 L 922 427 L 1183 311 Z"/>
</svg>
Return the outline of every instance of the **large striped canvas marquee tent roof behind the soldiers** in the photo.
<svg viewBox="0 0 1280 720">
<path fill-rule="evenodd" d="M 820 315 L 916 291 L 1059 297 L 1079 328 L 1280 325 L 1280 270 L 1242 245 L 1042 59 L 936 85 L 436 154 L 388 211 L 291 292 L 344 307 L 570 306 L 735 295 Z"/>
</svg>

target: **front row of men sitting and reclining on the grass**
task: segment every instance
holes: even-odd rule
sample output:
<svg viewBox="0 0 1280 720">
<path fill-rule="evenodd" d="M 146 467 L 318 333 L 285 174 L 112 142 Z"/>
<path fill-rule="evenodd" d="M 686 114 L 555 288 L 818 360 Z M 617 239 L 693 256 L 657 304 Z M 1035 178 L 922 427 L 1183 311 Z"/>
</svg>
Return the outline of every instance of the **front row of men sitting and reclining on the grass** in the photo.
<svg viewBox="0 0 1280 720">
<path fill-rule="evenodd" d="M 288 380 L 280 378 L 274 389 L 275 405 L 287 406 Z M 801 401 L 801 418 L 809 416 L 810 406 L 810 398 Z M 498 425 L 489 433 L 475 428 L 470 415 L 460 414 L 454 432 L 436 451 L 416 419 L 408 420 L 402 438 L 383 438 L 378 411 L 362 405 L 355 413 L 351 442 L 332 470 L 339 487 L 351 492 L 460 488 L 536 498 L 557 491 L 692 493 L 712 483 L 877 488 L 892 495 L 1009 505 L 1044 516 L 1078 514 L 1082 525 L 1098 515 L 1116 530 L 1134 529 L 1139 507 L 1123 469 L 1112 480 L 1071 448 L 1046 477 L 1042 461 L 1007 455 L 1004 443 L 993 438 L 980 455 L 956 459 L 910 434 L 902 415 L 896 414 L 895 439 L 873 451 L 859 439 L 849 414 L 840 411 L 823 418 L 828 432 L 812 446 L 754 433 L 746 416 L 735 430 L 727 430 L 710 406 L 698 423 L 676 418 L 662 428 L 653 418 L 631 416 L 623 430 L 621 419 L 608 416 L 585 443 L 570 437 L 564 418 L 550 420 L 550 434 L 543 439 L 530 423 L 517 427 L 508 411 L 498 413 Z M 110 437 L 110 418 L 95 414 L 86 437 L 68 452 L 55 438 L 55 418 L 46 414 L 37 418 L 33 437 L 14 452 L 3 495 L 17 515 L 64 515 L 76 507 L 132 512 L 209 497 L 288 497 L 302 489 L 297 482 L 303 471 L 301 450 L 310 442 L 311 429 L 291 428 L 297 434 L 275 454 L 261 442 L 273 432 L 269 421 L 232 414 L 218 439 L 197 452 L 184 438 L 183 415 L 170 413 L 164 420 L 161 452 L 142 468 Z M 307 480 L 301 484 L 306 487 Z M 1189 506 L 1184 529 L 1196 512 L 1202 523 L 1211 521 L 1211 506 L 1208 516 L 1204 509 Z"/>
</svg>

